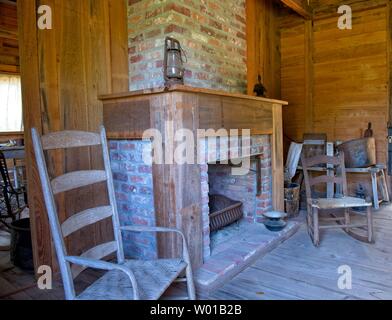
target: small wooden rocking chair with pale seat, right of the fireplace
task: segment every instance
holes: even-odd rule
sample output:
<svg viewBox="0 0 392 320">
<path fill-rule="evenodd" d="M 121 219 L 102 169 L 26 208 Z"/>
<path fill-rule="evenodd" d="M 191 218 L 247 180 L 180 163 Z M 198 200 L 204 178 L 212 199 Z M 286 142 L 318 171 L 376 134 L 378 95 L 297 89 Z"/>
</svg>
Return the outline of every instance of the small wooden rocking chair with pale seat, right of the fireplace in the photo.
<svg viewBox="0 0 392 320">
<path fill-rule="evenodd" d="M 326 174 L 327 166 L 334 168 Z M 320 230 L 341 228 L 350 236 L 364 242 L 373 242 L 373 218 L 372 203 L 365 199 L 350 197 L 347 191 L 346 168 L 344 165 L 344 153 L 336 157 L 315 156 L 305 158 L 302 155 L 302 166 L 305 178 L 307 197 L 307 224 L 309 235 L 315 246 L 320 244 Z M 320 197 L 316 186 L 332 185 L 334 197 Z M 325 189 L 326 190 L 326 189 Z M 351 222 L 351 214 L 361 214 L 353 211 L 353 208 L 366 207 L 366 221 L 360 223 Z M 338 211 L 343 211 L 344 216 L 339 216 Z M 320 212 L 329 213 L 329 217 L 322 218 Z M 321 224 L 321 222 L 325 222 Z"/>
</svg>

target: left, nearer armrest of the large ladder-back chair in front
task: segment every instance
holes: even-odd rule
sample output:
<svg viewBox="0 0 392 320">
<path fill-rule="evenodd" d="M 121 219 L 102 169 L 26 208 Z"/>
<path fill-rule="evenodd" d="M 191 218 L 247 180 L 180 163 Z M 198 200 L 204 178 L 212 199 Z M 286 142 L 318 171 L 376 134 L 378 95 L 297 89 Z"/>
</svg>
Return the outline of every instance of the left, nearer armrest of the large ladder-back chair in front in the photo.
<svg viewBox="0 0 392 320">
<path fill-rule="evenodd" d="M 110 263 L 110 262 L 106 262 L 106 261 L 102 261 L 102 260 L 95 260 L 95 259 L 90 259 L 90 258 L 84 258 L 84 257 L 68 256 L 68 257 L 65 257 L 65 260 L 72 263 L 72 264 L 80 265 L 83 267 L 100 269 L 100 270 L 107 270 L 107 271 L 119 270 L 119 271 L 124 272 L 128 276 L 129 280 L 132 283 L 134 300 L 140 300 L 139 289 L 138 289 L 138 285 L 136 282 L 136 277 L 135 277 L 134 273 L 132 272 L 132 270 L 130 270 L 129 268 L 124 267 L 119 264 L 115 264 L 115 263 Z"/>
</svg>

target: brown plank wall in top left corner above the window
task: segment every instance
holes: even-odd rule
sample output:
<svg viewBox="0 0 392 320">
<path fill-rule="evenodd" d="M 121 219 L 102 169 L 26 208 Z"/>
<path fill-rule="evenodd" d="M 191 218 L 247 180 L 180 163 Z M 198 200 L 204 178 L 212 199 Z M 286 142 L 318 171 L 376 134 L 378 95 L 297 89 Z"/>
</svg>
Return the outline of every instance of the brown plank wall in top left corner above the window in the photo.
<svg viewBox="0 0 392 320">
<path fill-rule="evenodd" d="M 0 73 L 19 73 L 16 2 L 0 0 Z"/>
</svg>

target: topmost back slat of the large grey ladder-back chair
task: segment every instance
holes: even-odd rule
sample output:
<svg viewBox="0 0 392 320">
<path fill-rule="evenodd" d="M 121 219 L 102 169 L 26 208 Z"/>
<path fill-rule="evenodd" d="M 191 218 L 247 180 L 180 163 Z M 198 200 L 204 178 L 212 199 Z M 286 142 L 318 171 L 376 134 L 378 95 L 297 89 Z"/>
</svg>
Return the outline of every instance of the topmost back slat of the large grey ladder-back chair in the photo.
<svg viewBox="0 0 392 320">
<path fill-rule="evenodd" d="M 101 144 L 101 137 L 97 133 L 84 131 L 60 131 L 42 136 L 44 150 L 91 147 Z"/>
</svg>

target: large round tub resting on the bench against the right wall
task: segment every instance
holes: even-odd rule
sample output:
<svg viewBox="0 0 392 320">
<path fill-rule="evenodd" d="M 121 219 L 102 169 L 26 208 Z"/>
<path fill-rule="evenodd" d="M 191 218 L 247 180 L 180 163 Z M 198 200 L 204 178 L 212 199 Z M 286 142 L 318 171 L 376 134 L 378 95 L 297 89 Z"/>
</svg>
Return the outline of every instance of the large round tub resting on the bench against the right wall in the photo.
<svg viewBox="0 0 392 320">
<path fill-rule="evenodd" d="M 337 149 L 344 152 L 346 168 L 367 168 L 377 164 L 374 138 L 347 141 Z"/>
</svg>

